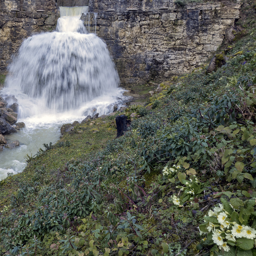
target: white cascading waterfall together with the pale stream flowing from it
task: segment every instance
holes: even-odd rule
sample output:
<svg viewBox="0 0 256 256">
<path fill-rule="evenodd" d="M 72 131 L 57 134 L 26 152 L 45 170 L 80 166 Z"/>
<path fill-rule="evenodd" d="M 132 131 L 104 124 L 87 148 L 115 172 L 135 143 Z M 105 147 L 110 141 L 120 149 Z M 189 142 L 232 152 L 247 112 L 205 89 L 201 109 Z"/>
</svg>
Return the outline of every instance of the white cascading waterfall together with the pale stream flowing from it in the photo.
<svg viewBox="0 0 256 256">
<path fill-rule="evenodd" d="M 6 137 L 9 141 L 20 140 L 22 146 L 12 151 L 4 148 L 0 153 L 0 179 L 7 171 L 21 171 L 27 152 L 35 153 L 29 145 L 36 144 L 39 148 L 42 143 L 49 143 L 46 141 L 49 131 L 55 134 L 51 141 L 56 141 L 59 136 L 56 126 L 61 121 L 82 120 L 84 115 L 97 112 L 108 114 L 113 112 L 115 104 L 119 107 L 122 104 L 123 90 L 118 88 L 119 77 L 107 46 L 95 34 L 87 33 L 80 20 L 82 13 L 88 13 L 88 6 L 60 7 L 56 31 L 26 39 L 9 67 L 0 93 L 13 94 L 18 99 L 18 122 L 26 124 L 21 135 L 31 139 L 22 145 L 20 133 Z M 48 135 L 36 141 L 43 131 Z M 13 156 L 12 161 L 22 165 L 16 169 L 13 166 L 17 162 L 13 164 L 9 159 L 15 151 L 22 155 L 22 159 Z"/>
</svg>

